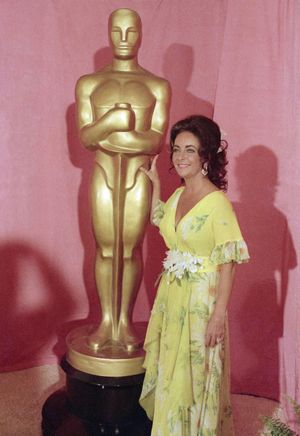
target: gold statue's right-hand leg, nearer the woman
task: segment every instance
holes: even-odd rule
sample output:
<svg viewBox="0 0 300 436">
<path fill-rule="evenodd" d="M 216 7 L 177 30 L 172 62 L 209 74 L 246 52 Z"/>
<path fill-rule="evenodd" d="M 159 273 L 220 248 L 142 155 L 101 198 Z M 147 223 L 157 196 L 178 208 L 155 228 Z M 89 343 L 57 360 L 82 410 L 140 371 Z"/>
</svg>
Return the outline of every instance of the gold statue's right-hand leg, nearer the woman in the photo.
<svg viewBox="0 0 300 436">
<path fill-rule="evenodd" d="M 127 349 L 141 345 L 132 325 L 132 312 L 142 274 L 142 242 L 149 220 L 151 186 L 138 172 L 135 185 L 126 192 L 123 224 L 123 279 L 118 325 L 118 340 Z"/>
</svg>

